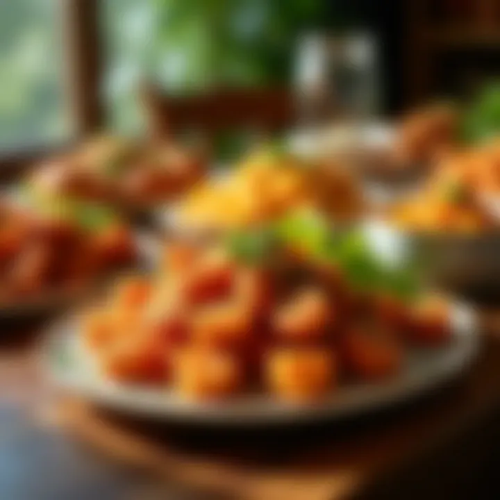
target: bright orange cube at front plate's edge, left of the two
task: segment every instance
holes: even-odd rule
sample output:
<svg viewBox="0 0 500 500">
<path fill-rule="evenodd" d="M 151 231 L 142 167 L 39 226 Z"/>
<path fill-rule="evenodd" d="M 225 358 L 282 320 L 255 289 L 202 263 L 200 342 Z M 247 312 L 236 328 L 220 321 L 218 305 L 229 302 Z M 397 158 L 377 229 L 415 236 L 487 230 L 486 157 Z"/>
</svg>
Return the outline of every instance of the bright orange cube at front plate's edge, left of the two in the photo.
<svg viewBox="0 0 500 500">
<path fill-rule="evenodd" d="M 233 354 L 190 347 L 174 354 L 174 389 L 194 400 L 221 399 L 240 390 L 242 363 Z"/>
</svg>

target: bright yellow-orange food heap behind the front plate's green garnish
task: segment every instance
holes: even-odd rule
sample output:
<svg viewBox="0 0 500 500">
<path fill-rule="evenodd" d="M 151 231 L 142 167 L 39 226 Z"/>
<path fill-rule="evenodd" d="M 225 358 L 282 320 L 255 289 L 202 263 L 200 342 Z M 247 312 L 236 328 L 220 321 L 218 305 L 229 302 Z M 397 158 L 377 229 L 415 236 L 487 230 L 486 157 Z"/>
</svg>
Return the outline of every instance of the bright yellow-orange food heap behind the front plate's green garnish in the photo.
<svg viewBox="0 0 500 500">
<path fill-rule="evenodd" d="M 190 226 L 234 228 L 301 207 L 352 219 L 363 200 L 356 180 L 337 165 L 304 165 L 292 156 L 256 153 L 227 178 L 194 188 L 181 205 L 181 218 Z"/>
</svg>

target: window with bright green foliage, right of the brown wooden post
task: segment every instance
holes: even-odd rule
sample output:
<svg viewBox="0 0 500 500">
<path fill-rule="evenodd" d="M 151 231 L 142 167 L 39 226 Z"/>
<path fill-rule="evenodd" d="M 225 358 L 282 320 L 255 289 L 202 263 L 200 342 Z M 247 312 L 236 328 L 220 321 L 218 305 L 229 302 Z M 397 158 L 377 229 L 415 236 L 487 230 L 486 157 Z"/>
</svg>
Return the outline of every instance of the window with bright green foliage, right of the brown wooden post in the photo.
<svg viewBox="0 0 500 500">
<path fill-rule="evenodd" d="M 110 122 L 138 128 L 138 80 L 170 92 L 290 81 L 297 33 L 322 19 L 322 0 L 102 0 Z"/>
</svg>

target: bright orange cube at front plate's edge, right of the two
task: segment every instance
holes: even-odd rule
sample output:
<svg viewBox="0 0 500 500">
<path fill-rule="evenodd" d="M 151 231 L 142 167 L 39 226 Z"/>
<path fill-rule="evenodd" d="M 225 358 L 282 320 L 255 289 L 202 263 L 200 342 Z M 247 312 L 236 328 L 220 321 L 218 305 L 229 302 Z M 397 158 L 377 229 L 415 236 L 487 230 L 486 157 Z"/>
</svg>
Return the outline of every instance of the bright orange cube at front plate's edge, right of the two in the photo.
<svg viewBox="0 0 500 500">
<path fill-rule="evenodd" d="M 266 358 L 265 378 L 269 390 L 285 401 L 308 401 L 335 386 L 337 363 L 333 352 L 319 348 L 282 348 Z"/>
</svg>

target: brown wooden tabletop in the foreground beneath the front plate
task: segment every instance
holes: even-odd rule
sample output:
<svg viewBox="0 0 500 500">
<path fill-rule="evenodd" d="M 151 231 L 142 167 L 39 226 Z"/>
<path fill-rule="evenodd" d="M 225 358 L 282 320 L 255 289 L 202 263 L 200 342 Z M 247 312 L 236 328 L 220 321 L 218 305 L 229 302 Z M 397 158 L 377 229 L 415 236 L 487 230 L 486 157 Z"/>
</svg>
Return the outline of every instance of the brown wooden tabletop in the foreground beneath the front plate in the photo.
<svg viewBox="0 0 500 500">
<path fill-rule="evenodd" d="M 40 334 L 3 334 L 0 498 L 500 498 L 500 317 L 483 318 L 478 360 L 439 392 L 258 432 L 145 426 L 63 400 L 35 363 Z"/>
</svg>

